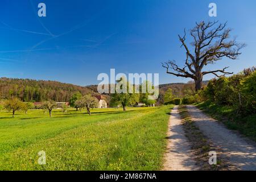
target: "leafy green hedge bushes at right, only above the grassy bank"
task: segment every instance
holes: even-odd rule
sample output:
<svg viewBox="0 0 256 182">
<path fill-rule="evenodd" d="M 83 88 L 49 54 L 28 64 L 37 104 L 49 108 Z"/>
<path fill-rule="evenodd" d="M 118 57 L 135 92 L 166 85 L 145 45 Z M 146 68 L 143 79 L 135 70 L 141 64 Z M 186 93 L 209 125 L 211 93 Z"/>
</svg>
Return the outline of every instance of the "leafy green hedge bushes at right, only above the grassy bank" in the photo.
<svg viewBox="0 0 256 182">
<path fill-rule="evenodd" d="M 207 87 L 197 93 L 196 100 L 233 107 L 234 115 L 253 114 L 256 110 L 255 75 L 254 69 L 245 69 L 231 77 L 210 80 Z"/>
</svg>

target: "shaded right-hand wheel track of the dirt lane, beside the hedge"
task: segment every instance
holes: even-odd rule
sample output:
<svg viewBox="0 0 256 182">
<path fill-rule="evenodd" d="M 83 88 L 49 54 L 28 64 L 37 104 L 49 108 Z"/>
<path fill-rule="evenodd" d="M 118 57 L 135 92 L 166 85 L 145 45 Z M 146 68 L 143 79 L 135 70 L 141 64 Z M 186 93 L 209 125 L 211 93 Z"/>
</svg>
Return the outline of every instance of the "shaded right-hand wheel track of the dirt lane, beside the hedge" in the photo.
<svg viewBox="0 0 256 182">
<path fill-rule="evenodd" d="M 256 147 L 195 106 L 187 106 L 191 119 L 210 140 L 220 147 L 229 162 L 241 170 L 256 170 Z"/>
</svg>

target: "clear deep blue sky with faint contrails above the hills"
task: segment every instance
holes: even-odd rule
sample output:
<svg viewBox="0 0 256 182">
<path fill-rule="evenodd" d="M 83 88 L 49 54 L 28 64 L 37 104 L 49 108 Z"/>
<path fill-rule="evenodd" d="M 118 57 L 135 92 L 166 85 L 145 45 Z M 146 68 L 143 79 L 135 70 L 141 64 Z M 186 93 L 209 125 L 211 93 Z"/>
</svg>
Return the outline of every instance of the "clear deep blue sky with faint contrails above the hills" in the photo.
<svg viewBox="0 0 256 182">
<path fill-rule="evenodd" d="M 37 15 L 44 2 L 47 17 Z M 210 2 L 217 18 L 208 16 Z M 205 0 L 1 0 L 0 77 L 97 84 L 110 68 L 122 73 L 159 73 L 160 83 L 187 82 L 167 75 L 161 62 L 182 64 L 177 34 L 195 22 L 228 21 L 245 42 L 239 60 L 220 61 L 208 70 L 230 66 L 239 72 L 256 65 L 256 1 Z M 212 76 L 213 77 L 213 76 Z M 205 77 L 204 80 L 212 78 Z"/>
</svg>

